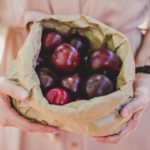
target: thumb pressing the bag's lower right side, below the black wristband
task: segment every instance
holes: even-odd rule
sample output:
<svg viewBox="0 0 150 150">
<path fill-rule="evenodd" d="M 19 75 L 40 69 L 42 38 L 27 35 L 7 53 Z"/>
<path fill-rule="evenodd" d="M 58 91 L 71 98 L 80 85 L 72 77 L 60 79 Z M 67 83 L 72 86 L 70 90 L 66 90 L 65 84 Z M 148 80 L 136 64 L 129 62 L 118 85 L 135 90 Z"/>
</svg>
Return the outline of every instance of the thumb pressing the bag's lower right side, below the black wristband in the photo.
<svg viewBox="0 0 150 150">
<path fill-rule="evenodd" d="M 141 97 L 135 98 L 122 108 L 120 115 L 122 117 L 127 117 L 129 114 L 134 114 L 135 112 L 143 109 L 146 104 L 147 100 Z"/>
</svg>

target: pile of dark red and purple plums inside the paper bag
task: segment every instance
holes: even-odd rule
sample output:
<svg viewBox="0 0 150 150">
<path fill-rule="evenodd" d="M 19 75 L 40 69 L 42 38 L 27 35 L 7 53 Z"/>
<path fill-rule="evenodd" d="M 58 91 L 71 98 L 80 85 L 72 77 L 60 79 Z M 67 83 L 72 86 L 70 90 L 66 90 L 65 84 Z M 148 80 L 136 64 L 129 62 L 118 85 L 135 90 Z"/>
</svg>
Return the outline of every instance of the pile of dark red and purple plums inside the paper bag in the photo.
<svg viewBox="0 0 150 150">
<path fill-rule="evenodd" d="M 122 62 L 112 50 L 92 50 L 86 37 L 77 33 L 64 36 L 46 28 L 41 41 L 36 72 L 50 104 L 64 105 L 116 90 Z"/>
</svg>

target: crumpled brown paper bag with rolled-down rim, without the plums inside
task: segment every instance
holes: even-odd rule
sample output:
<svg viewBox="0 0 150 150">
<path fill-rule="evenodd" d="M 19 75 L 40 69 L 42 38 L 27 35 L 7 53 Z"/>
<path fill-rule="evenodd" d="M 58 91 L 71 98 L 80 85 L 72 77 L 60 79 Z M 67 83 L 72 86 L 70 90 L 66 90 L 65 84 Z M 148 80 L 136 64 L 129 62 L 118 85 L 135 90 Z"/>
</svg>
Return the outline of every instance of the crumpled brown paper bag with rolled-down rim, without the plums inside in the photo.
<svg viewBox="0 0 150 150">
<path fill-rule="evenodd" d="M 55 29 L 61 34 L 78 32 L 90 40 L 92 49 L 107 44 L 108 48 L 114 50 L 123 62 L 117 78 L 117 91 L 63 106 L 48 104 L 34 70 L 44 27 Z M 21 115 L 31 121 L 91 136 L 114 134 L 131 117 L 123 119 L 118 110 L 133 96 L 134 70 L 133 55 L 123 34 L 87 16 L 49 16 L 34 22 L 17 59 L 8 70 L 8 78 L 30 92 L 30 97 L 25 102 L 12 98 L 12 104 Z"/>
</svg>

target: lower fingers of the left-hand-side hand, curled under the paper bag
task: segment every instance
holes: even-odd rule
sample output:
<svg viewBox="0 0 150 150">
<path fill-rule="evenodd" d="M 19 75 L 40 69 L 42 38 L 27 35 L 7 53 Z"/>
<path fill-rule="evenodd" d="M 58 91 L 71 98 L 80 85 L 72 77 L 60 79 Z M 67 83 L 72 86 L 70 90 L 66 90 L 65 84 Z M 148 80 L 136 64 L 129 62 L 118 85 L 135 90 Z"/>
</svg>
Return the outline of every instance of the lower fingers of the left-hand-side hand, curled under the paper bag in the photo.
<svg viewBox="0 0 150 150">
<path fill-rule="evenodd" d="M 12 125 L 20 128 L 21 130 L 29 132 L 55 132 L 58 133 L 59 129 L 53 126 L 41 125 L 39 123 L 32 123 L 26 118 L 20 116 L 15 110 L 11 110 L 13 115 L 10 119 Z"/>
</svg>

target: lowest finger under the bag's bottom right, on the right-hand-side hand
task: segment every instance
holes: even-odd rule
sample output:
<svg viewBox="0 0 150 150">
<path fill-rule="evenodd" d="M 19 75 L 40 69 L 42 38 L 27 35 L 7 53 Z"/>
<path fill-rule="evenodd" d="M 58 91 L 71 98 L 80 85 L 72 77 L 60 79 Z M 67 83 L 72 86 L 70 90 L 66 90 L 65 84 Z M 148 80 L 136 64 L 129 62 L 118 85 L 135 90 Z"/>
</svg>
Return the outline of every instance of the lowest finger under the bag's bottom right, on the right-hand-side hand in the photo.
<svg viewBox="0 0 150 150">
<path fill-rule="evenodd" d="M 126 128 L 123 129 L 119 134 L 106 136 L 106 137 L 97 137 L 96 140 L 101 143 L 116 144 L 122 139 L 124 139 L 131 132 L 131 130 L 135 129 L 136 125 L 137 125 L 137 121 L 132 119 L 128 122 Z"/>
</svg>

